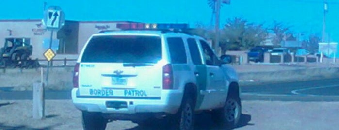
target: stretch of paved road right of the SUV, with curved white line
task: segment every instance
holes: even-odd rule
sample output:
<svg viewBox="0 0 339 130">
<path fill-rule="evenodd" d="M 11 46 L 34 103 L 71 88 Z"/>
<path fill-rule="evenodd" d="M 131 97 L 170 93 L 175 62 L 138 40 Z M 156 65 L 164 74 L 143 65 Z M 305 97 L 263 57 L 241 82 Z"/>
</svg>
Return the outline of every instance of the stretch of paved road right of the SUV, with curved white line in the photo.
<svg viewBox="0 0 339 130">
<path fill-rule="evenodd" d="M 242 99 L 339 101 L 339 79 L 242 86 Z"/>
</svg>

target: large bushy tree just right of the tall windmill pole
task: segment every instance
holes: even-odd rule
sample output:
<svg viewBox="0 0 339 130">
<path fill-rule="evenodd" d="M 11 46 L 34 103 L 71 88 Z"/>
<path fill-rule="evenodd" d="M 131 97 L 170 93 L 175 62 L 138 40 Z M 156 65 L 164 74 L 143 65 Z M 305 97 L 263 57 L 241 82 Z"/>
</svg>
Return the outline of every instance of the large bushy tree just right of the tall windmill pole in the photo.
<svg viewBox="0 0 339 130">
<path fill-rule="evenodd" d="M 244 50 L 259 45 L 266 39 L 267 29 L 262 24 L 248 23 L 247 20 L 235 17 L 228 19 L 221 34 L 222 53 L 226 49 Z"/>
</svg>

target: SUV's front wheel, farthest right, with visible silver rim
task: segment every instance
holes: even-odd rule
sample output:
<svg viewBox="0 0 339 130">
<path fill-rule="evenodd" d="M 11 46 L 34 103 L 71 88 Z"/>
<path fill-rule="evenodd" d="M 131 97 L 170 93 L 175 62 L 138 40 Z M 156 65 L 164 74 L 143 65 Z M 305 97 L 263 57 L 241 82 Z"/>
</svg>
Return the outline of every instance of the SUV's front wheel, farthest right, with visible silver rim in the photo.
<svg viewBox="0 0 339 130">
<path fill-rule="evenodd" d="M 224 107 L 212 112 L 212 120 L 222 127 L 232 129 L 237 126 L 241 114 L 242 106 L 240 98 L 229 95 Z"/>
</svg>

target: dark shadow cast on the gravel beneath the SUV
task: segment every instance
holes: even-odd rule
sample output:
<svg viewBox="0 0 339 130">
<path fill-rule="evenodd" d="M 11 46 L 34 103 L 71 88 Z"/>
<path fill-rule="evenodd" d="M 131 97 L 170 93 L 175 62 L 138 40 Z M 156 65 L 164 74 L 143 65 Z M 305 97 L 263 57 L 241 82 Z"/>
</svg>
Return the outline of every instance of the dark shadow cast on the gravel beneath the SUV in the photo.
<svg viewBox="0 0 339 130">
<path fill-rule="evenodd" d="M 254 125 L 249 123 L 251 121 L 251 115 L 249 114 L 242 114 L 239 120 L 239 124 L 237 127 L 232 128 L 241 128 L 247 125 Z M 136 126 L 134 128 L 126 129 L 126 130 L 178 130 L 176 126 L 171 125 L 173 123 L 168 121 L 162 121 L 160 123 L 154 123 L 151 126 Z M 222 128 L 218 125 L 216 125 L 212 120 L 210 114 L 197 114 L 194 130 L 229 130 L 226 128 Z"/>
</svg>

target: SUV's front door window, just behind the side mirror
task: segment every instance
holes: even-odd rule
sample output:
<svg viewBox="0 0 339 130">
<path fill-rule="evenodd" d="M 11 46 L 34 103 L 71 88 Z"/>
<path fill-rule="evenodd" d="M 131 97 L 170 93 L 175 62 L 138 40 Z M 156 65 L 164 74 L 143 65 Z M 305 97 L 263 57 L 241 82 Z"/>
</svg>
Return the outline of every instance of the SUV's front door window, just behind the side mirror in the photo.
<svg viewBox="0 0 339 130">
<path fill-rule="evenodd" d="M 200 44 L 203 49 L 206 65 L 220 65 L 218 57 L 213 53 L 213 50 L 210 49 L 210 46 L 203 40 L 200 40 Z"/>
</svg>

